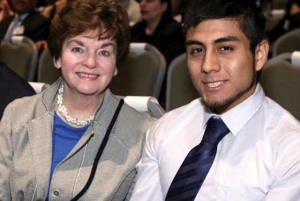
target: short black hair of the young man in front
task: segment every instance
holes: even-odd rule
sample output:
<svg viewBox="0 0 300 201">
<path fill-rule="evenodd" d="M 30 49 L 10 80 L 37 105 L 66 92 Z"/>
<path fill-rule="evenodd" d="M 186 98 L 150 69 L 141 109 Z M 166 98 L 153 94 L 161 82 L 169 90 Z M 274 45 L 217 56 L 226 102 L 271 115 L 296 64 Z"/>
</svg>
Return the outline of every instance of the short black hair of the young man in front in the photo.
<svg viewBox="0 0 300 201">
<path fill-rule="evenodd" d="M 254 0 L 193 0 L 184 15 L 184 36 L 204 20 L 232 19 L 250 42 L 250 51 L 266 39 L 265 18 Z M 230 29 L 230 27 L 228 27 Z"/>
</svg>

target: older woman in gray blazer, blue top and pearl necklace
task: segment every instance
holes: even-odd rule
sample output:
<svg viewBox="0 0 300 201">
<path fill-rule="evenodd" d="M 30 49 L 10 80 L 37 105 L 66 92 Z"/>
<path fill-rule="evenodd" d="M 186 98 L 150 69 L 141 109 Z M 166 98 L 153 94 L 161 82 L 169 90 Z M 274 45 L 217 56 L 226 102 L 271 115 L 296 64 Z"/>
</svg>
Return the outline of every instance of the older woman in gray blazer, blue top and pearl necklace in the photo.
<svg viewBox="0 0 300 201">
<path fill-rule="evenodd" d="M 10 104 L 0 124 L 0 200 L 123 200 L 152 118 L 107 89 L 129 49 L 114 0 L 72 0 L 49 49 L 62 78 Z"/>
</svg>

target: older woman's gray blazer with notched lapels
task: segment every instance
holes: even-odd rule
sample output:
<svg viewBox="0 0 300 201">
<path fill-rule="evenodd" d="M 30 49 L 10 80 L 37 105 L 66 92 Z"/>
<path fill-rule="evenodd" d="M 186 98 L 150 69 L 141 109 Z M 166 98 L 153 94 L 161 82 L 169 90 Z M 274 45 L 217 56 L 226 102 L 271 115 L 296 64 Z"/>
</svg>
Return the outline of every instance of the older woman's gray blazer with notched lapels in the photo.
<svg viewBox="0 0 300 201">
<path fill-rule="evenodd" d="M 49 187 L 54 102 L 61 79 L 42 94 L 12 102 L 0 123 L 0 200 L 71 200 L 86 184 L 119 100 L 106 90 L 95 121 L 56 167 Z M 94 180 L 81 200 L 123 200 L 154 119 L 124 104 Z"/>
</svg>

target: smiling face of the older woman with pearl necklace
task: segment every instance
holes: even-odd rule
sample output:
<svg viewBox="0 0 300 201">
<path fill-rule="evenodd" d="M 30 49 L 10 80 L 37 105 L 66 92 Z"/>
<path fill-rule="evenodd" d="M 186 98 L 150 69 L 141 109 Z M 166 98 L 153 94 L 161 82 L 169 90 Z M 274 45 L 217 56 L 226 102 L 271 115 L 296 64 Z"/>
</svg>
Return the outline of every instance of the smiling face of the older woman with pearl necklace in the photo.
<svg viewBox="0 0 300 201">
<path fill-rule="evenodd" d="M 101 95 L 117 74 L 116 52 L 116 41 L 98 40 L 98 31 L 67 38 L 61 57 L 54 61 L 55 67 L 61 68 L 66 92 Z"/>
</svg>

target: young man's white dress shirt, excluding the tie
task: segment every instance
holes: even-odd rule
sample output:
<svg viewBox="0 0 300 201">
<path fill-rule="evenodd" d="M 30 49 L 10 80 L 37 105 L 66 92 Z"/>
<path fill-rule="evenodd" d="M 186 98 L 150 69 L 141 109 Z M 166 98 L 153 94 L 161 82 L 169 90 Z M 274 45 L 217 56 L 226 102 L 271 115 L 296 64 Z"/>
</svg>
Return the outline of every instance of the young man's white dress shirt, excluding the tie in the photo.
<svg viewBox="0 0 300 201">
<path fill-rule="evenodd" d="M 212 115 L 196 99 L 167 113 L 149 129 L 131 201 L 165 199 Z M 267 98 L 260 85 L 220 117 L 230 133 L 218 144 L 195 200 L 300 200 L 300 123 Z"/>
</svg>

